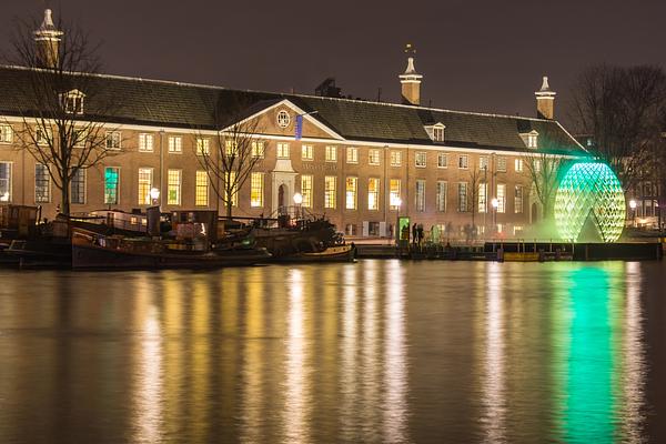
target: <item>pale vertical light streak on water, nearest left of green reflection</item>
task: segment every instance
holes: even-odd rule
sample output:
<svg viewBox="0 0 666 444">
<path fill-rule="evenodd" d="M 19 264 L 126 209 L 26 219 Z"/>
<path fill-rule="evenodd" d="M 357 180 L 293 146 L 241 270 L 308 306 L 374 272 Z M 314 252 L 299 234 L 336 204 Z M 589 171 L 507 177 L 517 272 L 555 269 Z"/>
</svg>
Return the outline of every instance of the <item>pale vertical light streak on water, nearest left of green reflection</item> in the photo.
<svg viewBox="0 0 666 444">
<path fill-rule="evenodd" d="M 492 262 L 486 270 L 486 332 L 485 365 L 483 383 L 483 427 L 485 442 L 504 441 L 505 375 L 504 375 L 504 325 L 503 325 L 503 264 Z"/>
</svg>

